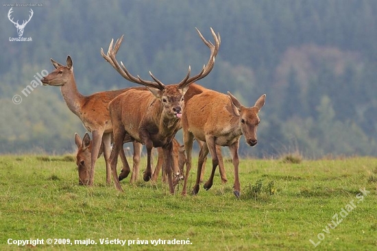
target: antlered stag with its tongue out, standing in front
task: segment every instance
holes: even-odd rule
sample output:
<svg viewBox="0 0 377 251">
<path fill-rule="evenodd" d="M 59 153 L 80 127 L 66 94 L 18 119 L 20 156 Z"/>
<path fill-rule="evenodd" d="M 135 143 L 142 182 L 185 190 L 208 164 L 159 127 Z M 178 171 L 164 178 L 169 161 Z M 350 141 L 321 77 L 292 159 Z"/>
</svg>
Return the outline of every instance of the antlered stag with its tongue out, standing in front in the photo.
<svg viewBox="0 0 377 251">
<path fill-rule="evenodd" d="M 145 181 L 151 178 L 152 147 L 162 147 L 169 191 L 174 193 L 171 179 L 172 141 L 175 133 L 180 129 L 180 118 L 184 109 L 183 97 L 190 84 L 206 77 L 210 73 L 215 64 L 215 57 L 221 43 L 219 34 L 216 35 L 212 28 L 211 32 L 215 45 L 208 42 L 198 29 L 197 32 L 207 47 L 210 48 L 210 59 L 204 65 L 202 71 L 193 77 L 190 77 L 191 68 L 189 67 L 186 77 L 179 84 L 165 85 L 151 72 L 149 72 L 149 75 L 154 81 L 142 80 L 139 76 L 134 77 L 131 75 L 122 62 L 120 66 L 115 56 L 123 36 L 117 40 L 114 47 L 114 40 L 111 41 L 107 55 L 101 48 L 101 55 L 119 74 L 130 82 L 146 86 L 149 90 L 127 91 L 114 98 L 109 104 L 110 117 L 114 127 L 114 146 L 110 156 L 110 163 L 115 187 L 119 191 L 123 191 L 123 189 L 121 189 L 117 179 L 117 158 L 123 139 L 126 134 L 129 134 L 132 140 L 143 143 L 147 148 L 147 169 L 143 177 Z"/>
</svg>

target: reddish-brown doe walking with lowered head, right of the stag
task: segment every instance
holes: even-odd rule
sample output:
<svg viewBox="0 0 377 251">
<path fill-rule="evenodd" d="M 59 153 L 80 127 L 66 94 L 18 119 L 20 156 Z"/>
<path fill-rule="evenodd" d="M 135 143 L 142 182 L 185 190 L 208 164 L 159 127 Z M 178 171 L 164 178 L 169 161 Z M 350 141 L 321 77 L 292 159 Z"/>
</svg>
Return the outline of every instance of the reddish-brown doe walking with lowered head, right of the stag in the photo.
<svg viewBox="0 0 377 251">
<path fill-rule="evenodd" d="M 190 95 L 184 96 L 185 107 L 182 114 L 184 150 L 187 158 L 182 195 L 186 195 L 187 180 L 191 169 L 191 150 L 195 137 L 199 141 L 204 141 L 204 144 L 199 152 L 193 194 L 196 195 L 199 191 L 202 164 L 208 151 L 212 156 L 212 172 L 204 184 L 204 189 L 208 190 L 212 187 L 213 176 L 219 164 L 216 145 L 221 145 L 228 146 L 232 154 L 234 195 L 239 198 L 239 141 L 243 135 L 248 145 L 256 145 L 256 128 L 260 122 L 258 112 L 265 104 L 266 95 L 260 96 L 253 107 L 247 108 L 229 92 L 225 95 L 197 84 L 191 84 L 190 89 Z"/>
</svg>

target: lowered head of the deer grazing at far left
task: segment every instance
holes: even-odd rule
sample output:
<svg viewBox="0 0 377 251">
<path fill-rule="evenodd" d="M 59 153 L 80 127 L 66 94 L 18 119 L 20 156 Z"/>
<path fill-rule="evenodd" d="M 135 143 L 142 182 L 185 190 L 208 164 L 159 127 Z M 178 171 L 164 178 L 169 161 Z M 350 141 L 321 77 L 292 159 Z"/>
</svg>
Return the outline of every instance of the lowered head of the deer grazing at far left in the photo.
<svg viewBox="0 0 377 251">
<path fill-rule="evenodd" d="M 81 139 L 80 135 L 75 133 L 75 144 L 77 145 L 76 165 L 79 171 L 79 184 L 87 184 L 89 180 L 90 166 L 92 165 L 91 150 L 92 141 L 88 132 L 85 133 L 84 138 Z M 104 152 L 104 147 L 101 144 L 97 158 Z"/>
</svg>

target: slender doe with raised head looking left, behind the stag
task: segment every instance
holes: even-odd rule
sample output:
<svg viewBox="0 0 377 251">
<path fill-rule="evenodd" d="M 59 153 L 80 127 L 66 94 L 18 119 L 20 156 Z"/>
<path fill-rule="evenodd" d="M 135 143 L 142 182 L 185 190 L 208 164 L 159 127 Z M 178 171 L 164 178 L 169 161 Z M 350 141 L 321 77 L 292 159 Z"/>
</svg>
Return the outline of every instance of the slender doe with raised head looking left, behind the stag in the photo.
<svg viewBox="0 0 377 251">
<path fill-rule="evenodd" d="M 106 161 L 106 182 L 111 182 L 111 169 L 108 158 L 110 157 L 110 142 L 112 134 L 112 123 L 108 104 L 114 97 L 130 90 L 130 88 L 121 89 L 119 91 L 104 91 L 95 93 L 90 96 L 84 96 L 77 90 L 75 76 L 73 74 L 73 62 L 71 56 L 66 58 L 66 66 L 59 64 L 51 58 L 51 62 L 55 70 L 49 75 L 42 77 L 40 80 L 43 85 L 60 86 L 60 91 L 68 106 L 69 110 L 79 117 L 84 127 L 93 134 L 93 145 L 90 146 L 91 160 L 90 170 L 87 175 L 82 175 L 80 184 L 93 185 L 95 174 L 95 162 L 99 156 L 101 143 L 104 147 L 104 157 Z M 138 87 L 141 88 L 141 87 Z M 147 88 L 141 88 L 147 90 Z M 138 163 L 140 161 L 142 145 L 134 143 L 134 171 L 132 172 L 131 182 L 137 179 Z M 121 160 L 123 169 L 119 179 L 127 177 L 130 173 L 130 166 L 125 158 L 124 151 L 121 151 Z M 85 178 L 84 178 L 85 177 Z"/>
</svg>

